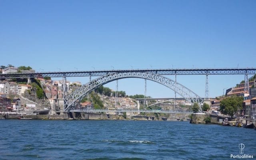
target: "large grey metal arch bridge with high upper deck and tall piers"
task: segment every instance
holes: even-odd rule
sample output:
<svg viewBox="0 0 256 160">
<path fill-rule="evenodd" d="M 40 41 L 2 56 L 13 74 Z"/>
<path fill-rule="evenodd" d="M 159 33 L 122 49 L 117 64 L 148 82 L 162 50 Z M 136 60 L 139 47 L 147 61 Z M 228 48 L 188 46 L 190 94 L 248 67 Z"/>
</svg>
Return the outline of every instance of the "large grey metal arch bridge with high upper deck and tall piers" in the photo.
<svg viewBox="0 0 256 160">
<path fill-rule="evenodd" d="M 256 74 L 256 68 L 229 68 L 229 69 L 138 69 L 138 70 L 98 70 L 98 71 L 71 71 L 71 72 L 36 72 L 36 73 L 10 73 L 0 74 L 0 79 L 5 78 L 38 78 L 38 77 L 62 77 L 63 78 L 63 97 L 64 97 L 64 112 L 70 112 L 80 107 L 80 100 L 88 95 L 92 90 L 104 85 L 108 82 L 122 78 L 143 78 L 145 79 L 145 97 L 146 97 L 146 80 L 152 80 L 160 83 L 182 96 L 186 101 L 198 103 L 200 112 L 202 112 L 203 98 L 198 96 L 192 90 L 179 84 L 176 81 L 176 75 L 206 75 L 205 99 L 208 99 L 208 75 L 214 74 L 243 74 L 245 76 L 244 91 L 249 91 L 248 74 Z M 163 75 L 175 75 L 175 80 L 166 78 Z M 84 84 L 70 95 L 66 95 L 66 77 L 89 76 L 90 82 Z M 91 80 L 91 76 L 98 78 Z M 117 96 L 117 95 L 116 95 Z M 145 104 L 145 103 L 144 103 Z"/>
</svg>

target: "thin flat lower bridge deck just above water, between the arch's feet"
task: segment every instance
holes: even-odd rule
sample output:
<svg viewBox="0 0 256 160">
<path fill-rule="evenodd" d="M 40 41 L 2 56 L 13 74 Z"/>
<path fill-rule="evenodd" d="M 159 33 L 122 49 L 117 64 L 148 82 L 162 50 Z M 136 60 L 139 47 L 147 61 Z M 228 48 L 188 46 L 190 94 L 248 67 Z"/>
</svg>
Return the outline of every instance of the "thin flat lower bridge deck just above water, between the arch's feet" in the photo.
<svg viewBox="0 0 256 160">
<path fill-rule="evenodd" d="M 76 108 L 69 112 L 144 112 L 144 113 L 176 113 L 176 114 L 192 114 L 191 110 L 128 110 L 128 109 L 87 109 Z"/>
</svg>

